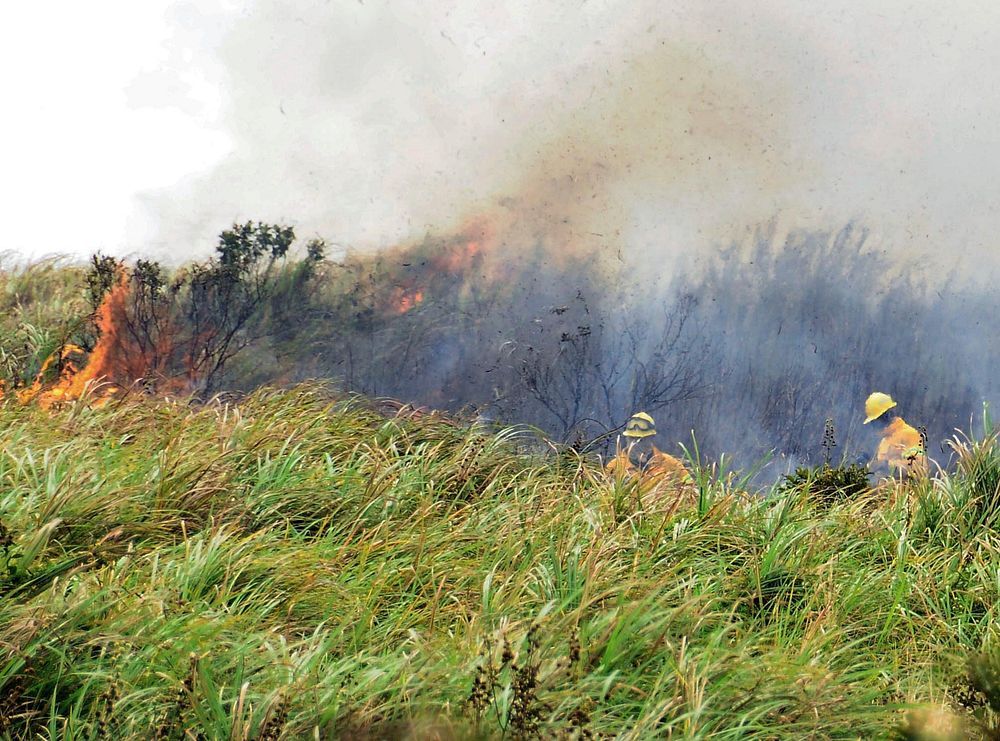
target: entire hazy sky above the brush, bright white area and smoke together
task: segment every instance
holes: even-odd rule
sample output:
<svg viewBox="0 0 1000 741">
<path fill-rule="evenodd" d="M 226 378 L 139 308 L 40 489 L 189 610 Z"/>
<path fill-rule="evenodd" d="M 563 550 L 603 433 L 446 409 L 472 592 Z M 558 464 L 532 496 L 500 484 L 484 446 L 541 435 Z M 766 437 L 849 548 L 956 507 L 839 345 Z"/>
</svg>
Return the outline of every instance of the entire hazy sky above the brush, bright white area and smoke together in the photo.
<svg viewBox="0 0 1000 741">
<path fill-rule="evenodd" d="M 183 259 L 249 218 L 376 247 L 501 209 L 639 256 L 860 218 L 992 261 L 1000 6 L 872 5 L 7 3 L 0 250 Z"/>
</svg>

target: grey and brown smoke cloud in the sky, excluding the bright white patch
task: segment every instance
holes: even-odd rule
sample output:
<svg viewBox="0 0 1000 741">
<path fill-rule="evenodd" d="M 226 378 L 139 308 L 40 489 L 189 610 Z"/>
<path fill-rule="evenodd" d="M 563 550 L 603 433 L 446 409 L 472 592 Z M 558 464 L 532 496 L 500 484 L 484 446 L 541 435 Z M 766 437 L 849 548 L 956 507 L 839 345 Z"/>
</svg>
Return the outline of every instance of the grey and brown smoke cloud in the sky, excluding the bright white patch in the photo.
<svg viewBox="0 0 1000 741">
<path fill-rule="evenodd" d="M 993 254 L 988 3 L 261 0 L 192 41 L 203 7 L 172 22 L 221 70 L 232 150 L 143 196 L 137 248 L 247 218 L 377 248 L 499 209 L 511 239 L 664 270 L 775 217 L 860 220 L 947 267 Z"/>
</svg>

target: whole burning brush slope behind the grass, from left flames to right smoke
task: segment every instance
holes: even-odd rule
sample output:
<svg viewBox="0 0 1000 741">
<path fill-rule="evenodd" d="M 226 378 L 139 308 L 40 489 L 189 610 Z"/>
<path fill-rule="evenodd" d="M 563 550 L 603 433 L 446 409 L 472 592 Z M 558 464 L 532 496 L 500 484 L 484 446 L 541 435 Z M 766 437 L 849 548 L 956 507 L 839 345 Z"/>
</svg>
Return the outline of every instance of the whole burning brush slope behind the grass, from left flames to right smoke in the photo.
<svg viewBox="0 0 1000 741">
<path fill-rule="evenodd" d="M 925 278 L 858 228 L 762 229 L 651 290 L 614 255 L 553 252 L 530 220 L 497 213 L 340 261 L 319 244 L 286 259 L 290 230 L 250 224 L 223 233 L 218 258 L 174 273 L 95 262 L 96 341 L 70 332 L 6 388 L 50 405 L 101 383 L 98 395 L 140 383 L 205 396 L 323 377 L 580 444 L 641 409 L 662 449 L 694 431 L 700 450 L 743 464 L 769 450 L 814 458 L 827 418 L 845 456 L 874 449 L 857 415 L 872 388 L 928 428 L 933 457 L 997 391 L 987 328 L 970 328 L 968 345 L 927 340 L 1000 311 L 995 299 L 919 290 Z"/>
</svg>

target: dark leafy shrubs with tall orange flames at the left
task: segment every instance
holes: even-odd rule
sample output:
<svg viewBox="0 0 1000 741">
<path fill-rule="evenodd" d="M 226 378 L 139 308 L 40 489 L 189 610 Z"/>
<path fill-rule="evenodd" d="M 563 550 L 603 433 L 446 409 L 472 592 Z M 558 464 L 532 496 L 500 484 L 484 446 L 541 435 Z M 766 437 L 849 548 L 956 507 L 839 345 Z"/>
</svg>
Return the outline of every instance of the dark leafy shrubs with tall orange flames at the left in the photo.
<svg viewBox="0 0 1000 741">
<path fill-rule="evenodd" d="M 83 353 L 83 341 L 64 341 L 30 384 L 13 384 L 17 397 L 49 406 L 98 384 L 105 384 L 102 397 L 136 384 L 161 393 L 211 392 L 256 333 L 284 318 L 322 260 L 323 245 L 313 241 L 305 259 L 286 261 L 294 239 L 286 227 L 234 225 L 220 235 L 216 258 L 173 275 L 147 260 L 126 266 L 94 256 L 86 283 L 95 309 L 81 323 L 96 336 L 92 349 Z M 89 334 L 81 327 L 78 333 Z"/>
</svg>

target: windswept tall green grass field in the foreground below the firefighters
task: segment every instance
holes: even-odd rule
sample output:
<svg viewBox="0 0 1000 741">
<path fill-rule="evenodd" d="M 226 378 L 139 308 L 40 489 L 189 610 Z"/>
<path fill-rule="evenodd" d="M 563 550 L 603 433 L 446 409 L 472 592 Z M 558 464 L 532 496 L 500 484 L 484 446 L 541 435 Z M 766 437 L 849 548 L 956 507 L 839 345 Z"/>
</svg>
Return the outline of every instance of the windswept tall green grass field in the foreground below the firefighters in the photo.
<svg viewBox="0 0 1000 741">
<path fill-rule="evenodd" d="M 699 469 L 684 506 L 531 440 L 310 385 L 0 402 L 0 733 L 996 733 L 991 435 L 833 504 Z"/>
</svg>

